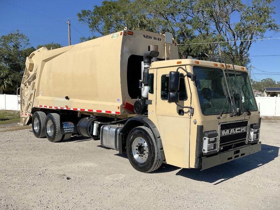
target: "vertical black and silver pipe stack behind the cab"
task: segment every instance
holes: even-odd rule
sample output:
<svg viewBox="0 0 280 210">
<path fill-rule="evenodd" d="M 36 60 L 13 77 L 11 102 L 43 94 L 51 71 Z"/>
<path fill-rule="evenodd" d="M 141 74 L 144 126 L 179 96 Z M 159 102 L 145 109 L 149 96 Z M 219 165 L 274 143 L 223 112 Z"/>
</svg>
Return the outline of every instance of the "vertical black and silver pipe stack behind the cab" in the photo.
<svg viewBox="0 0 280 210">
<path fill-rule="evenodd" d="M 153 50 L 154 49 L 154 50 Z M 143 71 L 143 80 L 139 81 L 139 87 L 142 87 L 142 83 L 144 84 L 144 90 L 141 95 L 141 99 L 135 101 L 134 103 L 134 111 L 136 114 L 142 114 L 145 111 L 147 111 L 147 104 L 146 99 L 148 99 L 148 92 L 149 92 L 149 68 L 151 66 L 152 59 L 154 61 L 157 60 L 157 56 L 160 54 L 158 51 L 155 51 L 158 49 L 157 45 L 150 45 L 148 47 L 148 50 L 143 55 L 143 62 L 144 62 L 144 71 Z"/>
</svg>

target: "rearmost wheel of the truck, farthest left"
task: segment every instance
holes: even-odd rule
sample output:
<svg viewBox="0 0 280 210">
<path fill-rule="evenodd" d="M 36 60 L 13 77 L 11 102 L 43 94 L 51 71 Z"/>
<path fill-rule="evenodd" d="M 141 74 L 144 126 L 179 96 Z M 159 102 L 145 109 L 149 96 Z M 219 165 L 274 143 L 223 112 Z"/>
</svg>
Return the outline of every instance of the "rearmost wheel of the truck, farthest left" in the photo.
<svg viewBox="0 0 280 210">
<path fill-rule="evenodd" d="M 47 115 L 44 112 L 34 112 L 32 116 L 32 130 L 37 138 L 46 137 L 45 123 Z"/>
</svg>

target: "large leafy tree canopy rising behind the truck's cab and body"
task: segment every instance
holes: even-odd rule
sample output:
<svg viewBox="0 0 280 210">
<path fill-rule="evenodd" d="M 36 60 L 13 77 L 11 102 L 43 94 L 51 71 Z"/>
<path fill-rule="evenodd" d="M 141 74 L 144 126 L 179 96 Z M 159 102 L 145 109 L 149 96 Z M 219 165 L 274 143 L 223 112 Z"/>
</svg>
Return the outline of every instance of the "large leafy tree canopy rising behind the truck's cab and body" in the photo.
<svg viewBox="0 0 280 210">
<path fill-rule="evenodd" d="M 272 18 L 275 11 L 271 2 L 117 0 L 103 1 L 101 6 L 95 5 L 93 10 L 82 10 L 77 15 L 92 34 L 107 35 L 124 27 L 157 33 L 166 31 L 174 35 L 178 44 L 185 44 L 178 47 L 182 58 L 222 56 L 246 66 L 250 62 L 248 51 L 254 42 L 249 40 L 265 37 L 266 31 L 279 31 L 279 25 Z"/>
</svg>

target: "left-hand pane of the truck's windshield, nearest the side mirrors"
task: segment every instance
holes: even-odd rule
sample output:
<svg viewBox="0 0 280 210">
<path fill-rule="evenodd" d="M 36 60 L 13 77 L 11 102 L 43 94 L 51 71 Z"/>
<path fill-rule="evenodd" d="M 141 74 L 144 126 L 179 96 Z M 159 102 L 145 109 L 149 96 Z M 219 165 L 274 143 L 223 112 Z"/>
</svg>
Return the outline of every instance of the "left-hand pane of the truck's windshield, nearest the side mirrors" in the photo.
<svg viewBox="0 0 280 210">
<path fill-rule="evenodd" d="M 226 83 L 221 69 L 193 67 L 196 75 L 196 88 L 201 111 L 204 115 L 220 114 L 232 111 L 230 100 L 227 100 Z M 224 106 L 225 105 L 225 106 Z"/>
</svg>

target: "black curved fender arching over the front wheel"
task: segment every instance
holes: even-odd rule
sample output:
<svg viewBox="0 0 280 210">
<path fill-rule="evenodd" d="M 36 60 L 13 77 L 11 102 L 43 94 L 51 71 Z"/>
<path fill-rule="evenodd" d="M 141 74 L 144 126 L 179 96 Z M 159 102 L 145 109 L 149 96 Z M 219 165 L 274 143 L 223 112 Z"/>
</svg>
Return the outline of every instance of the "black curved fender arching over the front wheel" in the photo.
<svg viewBox="0 0 280 210">
<path fill-rule="evenodd" d="M 162 146 L 162 141 L 160 138 L 160 132 L 158 131 L 157 127 L 155 124 L 148 118 L 142 115 L 135 116 L 133 118 L 130 118 L 127 120 L 125 125 L 120 131 L 120 135 L 122 136 L 122 141 L 119 141 L 119 153 L 124 153 L 124 147 L 125 147 L 125 141 L 128 133 L 135 127 L 145 125 L 149 129 L 151 129 L 153 136 L 155 137 L 155 143 L 157 146 L 157 151 L 159 151 L 160 154 L 160 160 L 163 163 L 166 163 L 165 160 L 165 155 L 164 155 L 164 150 Z"/>
</svg>

